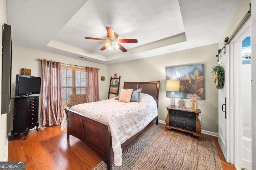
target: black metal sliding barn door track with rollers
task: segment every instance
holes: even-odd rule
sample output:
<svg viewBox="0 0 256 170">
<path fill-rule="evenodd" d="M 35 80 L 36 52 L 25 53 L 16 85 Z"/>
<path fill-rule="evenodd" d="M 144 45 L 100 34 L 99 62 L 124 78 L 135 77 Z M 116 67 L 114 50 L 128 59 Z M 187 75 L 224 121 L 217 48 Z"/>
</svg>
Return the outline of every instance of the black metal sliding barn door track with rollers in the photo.
<svg viewBox="0 0 256 170">
<path fill-rule="evenodd" d="M 226 37 L 225 38 L 225 45 L 222 47 L 222 49 L 218 49 L 218 55 L 222 52 L 223 49 L 225 49 L 226 45 L 230 43 L 230 41 L 235 37 L 236 33 L 238 33 L 238 31 L 242 28 L 242 26 L 244 25 L 244 23 L 249 19 L 249 17 L 251 16 L 251 4 L 249 4 L 250 9 L 248 10 L 248 12 L 245 14 L 244 18 L 242 19 L 242 21 L 240 21 L 240 23 L 238 24 L 238 26 L 236 27 L 236 29 L 234 30 L 234 32 L 230 35 L 230 38 Z M 226 53 L 226 52 L 224 52 Z M 218 57 L 218 55 L 216 57 Z"/>
</svg>

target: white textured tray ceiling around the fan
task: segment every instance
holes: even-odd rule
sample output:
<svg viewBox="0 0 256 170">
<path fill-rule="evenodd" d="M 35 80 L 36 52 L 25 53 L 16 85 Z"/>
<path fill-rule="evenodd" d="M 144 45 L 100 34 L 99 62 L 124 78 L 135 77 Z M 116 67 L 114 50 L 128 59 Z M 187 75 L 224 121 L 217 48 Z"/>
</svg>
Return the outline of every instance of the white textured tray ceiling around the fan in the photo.
<svg viewBox="0 0 256 170">
<path fill-rule="evenodd" d="M 12 41 L 43 51 L 114 64 L 218 43 L 240 0 L 8 0 Z M 128 51 L 100 51 L 106 26 Z"/>
</svg>

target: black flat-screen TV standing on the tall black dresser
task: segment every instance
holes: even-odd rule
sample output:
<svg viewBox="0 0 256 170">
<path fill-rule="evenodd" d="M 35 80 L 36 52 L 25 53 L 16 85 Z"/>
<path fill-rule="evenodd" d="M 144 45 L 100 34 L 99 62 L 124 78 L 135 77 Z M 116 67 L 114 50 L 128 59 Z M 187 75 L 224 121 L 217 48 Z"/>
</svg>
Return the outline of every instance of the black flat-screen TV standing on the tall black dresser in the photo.
<svg viewBox="0 0 256 170">
<path fill-rule="evenodd" d="M 30 94 L 40 94 L 41 77 L 16 75 L 15 96 L 23 97 Z"/>
</svg>

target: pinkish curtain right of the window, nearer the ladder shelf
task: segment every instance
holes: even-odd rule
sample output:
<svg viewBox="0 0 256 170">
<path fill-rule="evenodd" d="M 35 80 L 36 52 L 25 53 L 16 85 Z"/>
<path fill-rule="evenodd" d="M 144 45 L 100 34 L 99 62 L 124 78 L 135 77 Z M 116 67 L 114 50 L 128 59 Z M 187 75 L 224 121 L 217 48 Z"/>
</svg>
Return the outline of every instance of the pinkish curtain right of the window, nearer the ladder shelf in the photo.
<svg viewBox="0 0 256 170">
<path fill-rule="evenodd" d="M 86 67 L 86 103 L 100 100 L 98 68 Z"/>
</svg>

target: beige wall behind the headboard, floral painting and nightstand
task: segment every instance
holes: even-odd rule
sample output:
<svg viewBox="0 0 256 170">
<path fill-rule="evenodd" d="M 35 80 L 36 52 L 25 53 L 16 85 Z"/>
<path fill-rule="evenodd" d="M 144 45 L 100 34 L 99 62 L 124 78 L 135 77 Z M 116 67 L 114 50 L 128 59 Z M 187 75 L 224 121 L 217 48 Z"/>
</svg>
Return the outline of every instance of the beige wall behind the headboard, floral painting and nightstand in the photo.
<svg viewBox="0 0 256 170">
<path fill-rule="evenodd" d="M 170 98 L 166 97 L 166 66 L 178 66 L 204 63 L 206 100 L 198 102 L 201 109 L 202 129 L 218 133 L 218 90 L 212 82 L 212 66 L 217 64 L 215 57 L 218 44 L 207 45 L 194 49 L 149 57 L 108 66 L 108 78 L 117 73 L 121 76 L 120 88 L 124 81 L 146 82 L 160 80 L 159 92 L 159 120 L 165 121 L 166 107 L 170 105 Z M 188 101 L 188 100 L 187 100 Z M 177 100 L 176 100 L 177 103 Z M 190 107 L 190 102 L 187 102 Z"/>
</svg>

